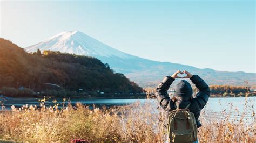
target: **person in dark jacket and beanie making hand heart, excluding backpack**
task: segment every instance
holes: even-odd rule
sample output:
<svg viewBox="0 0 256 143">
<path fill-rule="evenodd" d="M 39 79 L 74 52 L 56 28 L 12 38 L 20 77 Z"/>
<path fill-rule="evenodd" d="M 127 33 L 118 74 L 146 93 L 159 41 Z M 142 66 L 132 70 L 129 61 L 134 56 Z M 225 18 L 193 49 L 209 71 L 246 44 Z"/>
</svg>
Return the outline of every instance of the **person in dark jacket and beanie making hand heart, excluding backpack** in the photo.
<svg viewBox="0 0 256 143">
<path fill-rule="evenodd" d="M 180 77 L 178 74 L 186 74 L 185 77 Z M 189 78 L 193 84 L 199 89 L 196 97 L 192 97 L 193 90 L 190 85 L 185 80 L 181 80 L 175 87 L 174 87 L 174 97 L 170 98 L 167 94 L 167 90 L 169 90 L 170 85 L 176 78 Z M 198 120 L 200 116 L 200 111 L 206 105 L 209 97 L 210 97 L 210 88 L 206 84 L 206 82 L 200 78 L 198 75 L 192 75 L 190 72 L 184 71 L 176 71 L 172 76 L 164 77 L 163 81 L 157 86 L 156 88 L 156 98 L 159 102 L 160 106 L 171 113 L 176 108 L 185 109 L 187 106 L 188 110 L 194 113 L 194 117 L 196 119 L 197 128 L 201 127 L 201 123 Z M 190 104 L 190 105 L 188 105 Z"/>
</svg>

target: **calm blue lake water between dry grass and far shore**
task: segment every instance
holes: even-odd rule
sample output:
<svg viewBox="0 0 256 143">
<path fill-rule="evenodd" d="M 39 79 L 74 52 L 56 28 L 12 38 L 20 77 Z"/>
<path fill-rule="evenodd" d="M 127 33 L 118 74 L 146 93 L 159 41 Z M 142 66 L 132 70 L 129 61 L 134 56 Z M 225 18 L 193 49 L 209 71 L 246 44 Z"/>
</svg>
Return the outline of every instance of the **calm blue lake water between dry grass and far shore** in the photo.
<svg viewBox="0 0 256 143">
<path fill-rule="evenodd" d="M 57 103 L 62 102 L 62 98 L 50 98 L 48 102 L 45 102 L 45 105 L 53 105 L 52 100 L 56 99 Z M 144 103 L 147 99 L 79 99 L 79 98 L 70 98 L 72 104 L 77 102 L 96 106 L 120 106 L 132 104 L 134 102 Z M 246 98 L 245 97 L 228 97 L 228 98 L 210 98 L 207 105 L 206 110 L 211 110 L 214 112 L 220 112 L 224 109 L 230 109 L 230 104 L 233 104 L 233 109 L 237 109 L 239 111 L 244 110 Z M 247 101 L 252 105 L 254 104 L 255 108 L 255 97 L 248 97 Z M 154 105 L 157 105 L 156 99 L 150 99 L 150 102 Z M 11 105 L 15 105 L 16 107 L 29 104 L 29 105 L 37 105 L 39 106 L 38 98 L 13 98 L 12 100 L 8 100 L 4 102 L 5 109 L 10 110 Z"/>
</svg>

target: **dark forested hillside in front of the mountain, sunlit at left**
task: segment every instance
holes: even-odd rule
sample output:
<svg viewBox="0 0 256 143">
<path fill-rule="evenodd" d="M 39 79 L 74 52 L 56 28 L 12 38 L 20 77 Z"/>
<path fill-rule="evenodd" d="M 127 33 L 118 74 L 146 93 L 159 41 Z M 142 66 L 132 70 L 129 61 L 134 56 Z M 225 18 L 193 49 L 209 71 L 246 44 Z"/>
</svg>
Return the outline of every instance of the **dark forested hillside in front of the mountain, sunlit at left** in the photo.
<svg viewBox="0 0 256 143">
<path fill-rule="evenodd" d="M 19 87 L 37 91 L 45 83 L 67 91 L 141 92 L 142 88 L 96 58 L 51 51 L 26 53 L 0 38 L 0 88 Z"/>
</svg>

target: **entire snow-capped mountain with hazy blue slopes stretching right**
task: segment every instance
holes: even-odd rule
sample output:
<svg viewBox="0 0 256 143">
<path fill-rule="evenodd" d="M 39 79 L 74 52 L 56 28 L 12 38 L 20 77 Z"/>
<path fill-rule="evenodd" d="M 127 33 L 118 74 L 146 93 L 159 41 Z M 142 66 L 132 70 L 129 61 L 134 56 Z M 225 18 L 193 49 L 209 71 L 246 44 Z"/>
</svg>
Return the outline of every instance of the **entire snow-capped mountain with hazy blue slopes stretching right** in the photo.
<svg viewBox="0 0 256 143">
<path fill-rule="evenodd" d="M 188 70 L 199 74 L 210 84 L 244 85 L 245 80 L 256 84 L 254 73 L 199 69 L 178 63 L 147 60 L 118 51 L 79 31 L 62 32 L 25 48 L 27 52 L 36 52 L 37 49 L 93 56 L 103 63 L 109 63 L 114 71 L 125 74 L 142 86 L 154 86 L 165 75 L 170 75 L 176 70 Z"/>
</svg>

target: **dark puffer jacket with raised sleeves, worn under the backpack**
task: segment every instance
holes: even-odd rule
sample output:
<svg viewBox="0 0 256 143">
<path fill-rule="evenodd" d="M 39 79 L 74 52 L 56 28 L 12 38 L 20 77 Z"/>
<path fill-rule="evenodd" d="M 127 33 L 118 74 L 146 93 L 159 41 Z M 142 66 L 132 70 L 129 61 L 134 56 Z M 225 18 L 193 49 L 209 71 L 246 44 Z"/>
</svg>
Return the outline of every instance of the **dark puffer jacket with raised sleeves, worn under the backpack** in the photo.
<svg viewBox="0 0 256 143">
<path fill-rule="evenodd" d="M 160 103 L 161 107 L 167 111 L 171 112 L 172 110 L 176 109 L 174 104 L 179 105 L 180 109 L 185 108 L 189 103 L 190 107 L 188 108 L 191 112 L 194 113 L 196 118 L 197 127 L 199 128 L 201 123 L 198 120 L 200 116 L 200 111 L 204 108 L 205 104 L 207 103 L 209 96 L 210 96 L 210 88 L 205 83 L 205 81 L 200 78 L 198 75 L 193 75 L 190 80 L 196 85 L 199 89 L 197 96 L 195 98 L 182 98 L 177 102 L 171 99 L 168 94 L 167 90 L 170 88 L 170 85 L 175 79 L 171 76 L 166 76 L 164 80 L 157 86 L 156 89 L 156 98 Z"/>
</svg>

